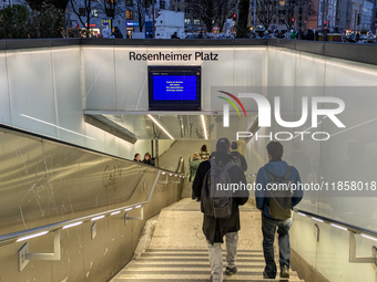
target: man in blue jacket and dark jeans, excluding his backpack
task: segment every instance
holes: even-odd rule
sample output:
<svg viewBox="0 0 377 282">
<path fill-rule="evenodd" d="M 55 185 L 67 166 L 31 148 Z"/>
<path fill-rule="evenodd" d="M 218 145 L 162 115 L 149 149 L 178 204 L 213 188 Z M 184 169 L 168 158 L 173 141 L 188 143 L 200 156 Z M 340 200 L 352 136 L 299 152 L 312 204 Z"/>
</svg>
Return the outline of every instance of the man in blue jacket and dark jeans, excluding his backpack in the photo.
<svg viewBox="0 0 377 282">
<path fill-rule="evenodd" d="M 273 179 L 269 178 L 268 173 L 275 176 L 276 180 L 282 180 L 288 171 L 288 164 L 282 160 L 283 145 L 279 142 L 271 142 L 267 144 L 267 153 L 269 163 L 259 168 L 256 176 L 256 187 L 261 189 L 255 190 L 256 207 L 262 212 L 262 232 L 263 232 L 263 252 L 266 262 L 265 270 L 263 272 L 264 278 L 275 279 L 276 264 L 274 260 L 274 239 L 277 228 L 278 246 L 279 246 L 279 264 L 281 264 L 281 278 L 289 278 L 289 229 L 292 226 L 292 217 L 275 219 L 269 215 L 269 197 L 267 196 L 267 184 Z M 268 170 L 268 173 L 267 173 Z M 296 184 L 298 189 L 295 190 L 292 197 L 292 208 L 295 207 L 303 199 L 303 190 L 299 188 L 300 178 L 297 169 L 291 167 L 289 180 Z"/>
</svg>

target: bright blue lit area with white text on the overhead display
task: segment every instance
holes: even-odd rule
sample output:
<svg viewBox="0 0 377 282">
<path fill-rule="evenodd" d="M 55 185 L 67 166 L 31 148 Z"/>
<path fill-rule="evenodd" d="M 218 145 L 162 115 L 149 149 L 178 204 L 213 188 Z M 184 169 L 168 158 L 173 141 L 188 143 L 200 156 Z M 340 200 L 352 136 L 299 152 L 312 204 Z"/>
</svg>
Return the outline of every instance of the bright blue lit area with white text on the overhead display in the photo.
<svg viewBox="0 0 377 282">
<path fill-rule="evenodd" d="M 155 101 L 196 101 L 196 75 L 154 75 Z"/>
</svg>

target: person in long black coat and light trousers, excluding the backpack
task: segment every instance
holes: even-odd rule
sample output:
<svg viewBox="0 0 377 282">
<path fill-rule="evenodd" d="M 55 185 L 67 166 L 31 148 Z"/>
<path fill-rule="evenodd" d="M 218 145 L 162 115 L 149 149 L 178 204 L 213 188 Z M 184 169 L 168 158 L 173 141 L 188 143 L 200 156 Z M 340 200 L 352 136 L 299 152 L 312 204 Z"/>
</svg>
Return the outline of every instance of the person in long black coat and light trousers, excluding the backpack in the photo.
<svg viewBox="0 0 377 282">
<path fill-rule="evenodd" d="M 231 144 L 227 138 L 221 138 L 216 144 L 216 161 L 217 166 L 225 166 L 232 160 Z M 211 168 L 210 160 L 201 163 L 196 170 L 196 176 L 193 184 L 193 191 L 196 197 L 201 197 L 203 181 L 206 173 Z M 244 184 L 246 185 L 246 178 L 242 169 L 234 165 L 228 169 L 228 175 L 231 177 L 232 184 Z M 232 198 L 232 215 L 228 219 L 218 219 L 204 213 L 203 219 L 203 233 L 207 241 L 208 252 L 210 252 L 210 264 L 211 264 L 211 281 L 223 281 L 223 258 L 222 258 L 222 247 L 224 242 L 223 238 L 226 238 L 226 269 L 225 274 L 232 275 L 237 272 L 235 265 L 235 258 L 237 253 L 238 243 L 238 230 L 240 224 L 240 210 L 238 206 L 245 205 L 248 200 L 248 190 L 244 189 L 242 192 L 235 194 Z M 204 212 L 203 199 L 201 202 L 201 210 Z"/>
</svg>

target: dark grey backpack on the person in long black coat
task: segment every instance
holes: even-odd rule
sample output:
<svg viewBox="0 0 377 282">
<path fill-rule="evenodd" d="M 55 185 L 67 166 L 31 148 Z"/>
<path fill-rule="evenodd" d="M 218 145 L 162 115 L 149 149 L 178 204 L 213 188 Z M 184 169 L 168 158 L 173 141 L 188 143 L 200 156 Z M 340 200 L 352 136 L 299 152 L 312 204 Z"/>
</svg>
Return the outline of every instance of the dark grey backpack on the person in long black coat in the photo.
<svg viewBox="0 0 377 282">
<path fill-rule="evenodd" d="M 210 165 L 211 168 L 205 174 L 202 186 L 203 212 L 210 217 L 227 219 L 232 216 L 233 203 L 233 191 L 230 189 L 232 181 L 228 170 L 235 166 L 235 163 L 228 161 L 224 166 L 217 166 L 216 161 L 211 158 Z"/>
</svg>

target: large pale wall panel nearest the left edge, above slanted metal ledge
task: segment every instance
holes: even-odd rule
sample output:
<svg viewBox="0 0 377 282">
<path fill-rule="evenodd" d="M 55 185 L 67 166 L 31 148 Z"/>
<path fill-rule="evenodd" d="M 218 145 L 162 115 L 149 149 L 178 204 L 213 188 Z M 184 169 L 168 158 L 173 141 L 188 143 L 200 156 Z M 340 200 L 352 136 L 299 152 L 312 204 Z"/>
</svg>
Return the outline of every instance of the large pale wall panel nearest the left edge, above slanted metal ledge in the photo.
<svg viewBox="0 0 377 282">
<path fill-rule="evenodd" d="M 49 49 L 7 52 L 12 125 L 48 136 L 57 136 Z M 27 115 L 39 121 L 27 118 Z"/>
</svg>

